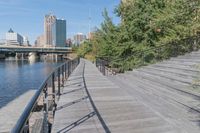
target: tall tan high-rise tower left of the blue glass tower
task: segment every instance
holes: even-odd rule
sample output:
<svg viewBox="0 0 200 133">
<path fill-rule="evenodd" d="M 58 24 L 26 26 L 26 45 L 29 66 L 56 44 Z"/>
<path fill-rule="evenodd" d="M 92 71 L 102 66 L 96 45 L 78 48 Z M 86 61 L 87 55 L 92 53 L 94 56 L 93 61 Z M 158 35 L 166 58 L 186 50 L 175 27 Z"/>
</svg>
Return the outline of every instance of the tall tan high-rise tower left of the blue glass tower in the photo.
<svg viewBox="0 0 200 133">
<path fill-rule="evenodd" d="M 51 47 L 53 44 L 52 25 L 56 21 L 56 16 L 53 14 L 45 15 L 44 19 L 44 40 L 46 47 Z"/>
</svg>

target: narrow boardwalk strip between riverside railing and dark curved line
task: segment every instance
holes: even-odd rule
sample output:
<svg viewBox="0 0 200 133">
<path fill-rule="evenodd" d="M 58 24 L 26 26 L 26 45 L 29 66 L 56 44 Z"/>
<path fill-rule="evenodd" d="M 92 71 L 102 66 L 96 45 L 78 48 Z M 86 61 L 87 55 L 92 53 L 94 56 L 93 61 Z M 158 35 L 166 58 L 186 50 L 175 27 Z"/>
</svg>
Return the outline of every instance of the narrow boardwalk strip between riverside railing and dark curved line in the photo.
<svg viewBox="0 0 200 133">
<path fill-rule="evenodd" d="M 76 132 L 87 126 L 88 129 L 86 130 L 88 131 L 96 132 L 101 130 L 110 133 L 89 94 L 85 83 L 84 70 L 85 63 L 81 61 L 81 64 L 70 76 L 68 83 L 64 85 L 63 90 L 65 92 L 61 94 L 60 104 L 58 103 L 59 106 L 56 109 L 52 132 Z M 71 101 L 69 102 L 68 100 Z M 92 119 L 92 123 L 88 122 L 90 119 Z M 99 127 L 96 127 L 96 124 Z"/>
</svg>

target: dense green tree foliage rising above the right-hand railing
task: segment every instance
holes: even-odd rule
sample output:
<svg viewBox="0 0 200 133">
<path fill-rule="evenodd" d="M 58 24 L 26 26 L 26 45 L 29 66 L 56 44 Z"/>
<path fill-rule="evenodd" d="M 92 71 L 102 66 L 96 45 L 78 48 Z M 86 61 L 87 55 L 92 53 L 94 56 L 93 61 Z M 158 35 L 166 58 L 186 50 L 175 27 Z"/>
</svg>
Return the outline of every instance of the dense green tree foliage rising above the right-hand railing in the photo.
<svg viewBox="0 0 200 133">
<path fill-rule="evenodd" d="M 121 23 L 114 25 L 104 10 L 104 22 L 85 51 L 121 71 L 170 58 L 177 51 L 183 54 L 191 50 L 200 31 L 199 7 L 199 0 L 121 2 L 115 9 Z"/>
</svg>

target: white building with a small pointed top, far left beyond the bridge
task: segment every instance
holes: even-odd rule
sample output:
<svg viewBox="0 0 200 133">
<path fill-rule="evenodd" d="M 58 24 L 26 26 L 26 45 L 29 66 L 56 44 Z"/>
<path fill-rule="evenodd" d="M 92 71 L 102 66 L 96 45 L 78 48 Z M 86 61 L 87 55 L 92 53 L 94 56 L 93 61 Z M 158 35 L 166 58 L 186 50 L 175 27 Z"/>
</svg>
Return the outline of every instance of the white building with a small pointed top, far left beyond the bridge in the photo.
<svg viewBox="0 0 200 133">
<path fill-rule="evenodd" d="M 23 37 L 15 33 L 12 29 L 10 29 L 6 33 L 6 44 L 7 45 L 23 45 Z"/>
</svg>

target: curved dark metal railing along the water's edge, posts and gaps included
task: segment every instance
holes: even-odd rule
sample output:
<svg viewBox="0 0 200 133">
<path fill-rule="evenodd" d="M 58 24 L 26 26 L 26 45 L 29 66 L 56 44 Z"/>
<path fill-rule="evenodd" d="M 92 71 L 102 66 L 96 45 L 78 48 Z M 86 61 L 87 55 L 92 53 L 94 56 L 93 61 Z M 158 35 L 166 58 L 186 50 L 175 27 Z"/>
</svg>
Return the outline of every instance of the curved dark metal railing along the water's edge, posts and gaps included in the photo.
<svg viewBox="0 0 200 133">
<path fill-rule="evenodd" d="M 79 58 L 67 61 L 48 76 L 26 106 L 12 133 L 50 132 L 61 89 L 79 62 Z"/>
</svg>

